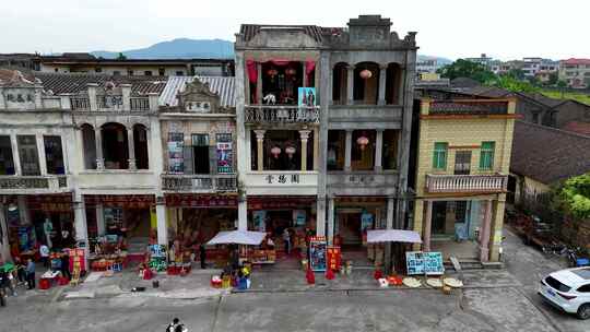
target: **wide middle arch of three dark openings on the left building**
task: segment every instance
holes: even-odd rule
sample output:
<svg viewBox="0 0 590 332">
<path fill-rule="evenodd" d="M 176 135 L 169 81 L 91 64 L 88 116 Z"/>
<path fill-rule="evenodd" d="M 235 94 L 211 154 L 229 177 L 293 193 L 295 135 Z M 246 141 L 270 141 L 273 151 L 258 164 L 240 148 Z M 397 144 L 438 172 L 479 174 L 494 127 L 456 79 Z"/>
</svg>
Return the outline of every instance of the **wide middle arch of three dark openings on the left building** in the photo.
<svg viewBox="0 0 590 332">
<path fill-rule="evenodd" d="M 103 129 L 103 157 L 106 169 L 129 168 L 127 129 L 121 123 L 109 122 Z"/>
</svg>

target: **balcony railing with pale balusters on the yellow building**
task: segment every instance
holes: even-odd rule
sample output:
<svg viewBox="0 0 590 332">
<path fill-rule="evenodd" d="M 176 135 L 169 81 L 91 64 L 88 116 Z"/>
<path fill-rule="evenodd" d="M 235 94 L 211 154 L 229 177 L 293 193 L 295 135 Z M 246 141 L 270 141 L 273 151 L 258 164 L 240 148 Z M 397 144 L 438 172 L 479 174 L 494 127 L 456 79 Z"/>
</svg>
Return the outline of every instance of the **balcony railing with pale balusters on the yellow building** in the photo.
<svg viewBox="0 0 590 332">
<path fill-rule="evenodd" d="M 503 192 L 506 191 L 506 175 L 426 175 L 426 190 L 440 192 Z"/>
</svg>

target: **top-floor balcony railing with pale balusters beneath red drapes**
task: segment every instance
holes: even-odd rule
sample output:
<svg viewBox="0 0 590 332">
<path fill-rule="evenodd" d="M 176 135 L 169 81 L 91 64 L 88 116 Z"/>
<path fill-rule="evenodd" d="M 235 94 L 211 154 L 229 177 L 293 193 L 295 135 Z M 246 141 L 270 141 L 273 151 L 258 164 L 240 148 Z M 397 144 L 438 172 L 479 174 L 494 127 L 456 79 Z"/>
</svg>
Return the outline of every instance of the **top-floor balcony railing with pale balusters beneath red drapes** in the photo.
<svg viewBox="0 0 590 332">
<path fill-rule="evenodd" d="M 247 123 L 317 123 L 320 107 L 282 105 L 246 106 Z"/>
</svg>

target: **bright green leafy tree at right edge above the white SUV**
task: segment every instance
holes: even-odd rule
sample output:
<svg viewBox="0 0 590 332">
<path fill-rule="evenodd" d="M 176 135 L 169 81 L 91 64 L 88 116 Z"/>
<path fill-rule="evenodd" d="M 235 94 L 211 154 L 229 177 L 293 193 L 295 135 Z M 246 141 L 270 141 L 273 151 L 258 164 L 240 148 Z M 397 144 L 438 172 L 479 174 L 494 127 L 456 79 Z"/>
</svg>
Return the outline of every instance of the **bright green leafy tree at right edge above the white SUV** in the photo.
<svg viewBox="0 0 590 332">
<path fill-rule="evenodd" d="M 582 220 L 590 218 L 590 173 L 569 178 L 558 193 L 566 211 Z"/>
</svg>

